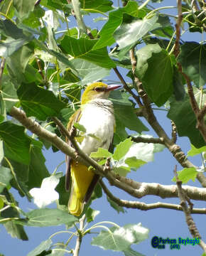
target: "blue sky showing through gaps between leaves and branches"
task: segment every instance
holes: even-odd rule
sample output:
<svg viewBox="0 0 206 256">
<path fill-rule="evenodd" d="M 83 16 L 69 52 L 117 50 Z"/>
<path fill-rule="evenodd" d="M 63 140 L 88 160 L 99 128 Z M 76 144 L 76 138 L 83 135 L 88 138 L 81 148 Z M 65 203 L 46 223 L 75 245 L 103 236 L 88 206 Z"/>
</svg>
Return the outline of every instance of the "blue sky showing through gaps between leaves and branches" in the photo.
<svg viewBox="0 0 206 256">
<path fill-rule="evenodd" d="M 114 1 L 115 3 L 117 1 Z M 155 4 L 154 6 L 162 6 L 165 5 L 165 2 L 168 6 L 173 6 L 176 4 L 176 1 L 170 0 L 170 1 L 163 1 L 163 4 Z M 176 14 L 176 9 L 167 9 L 167 14 Z M 99 15 L 98 15 L 99 16 Z M 171 20 L 173 22 L 173 19 Z M 86 17 L 85 22 L 87 23 L 87 26 L 92 26 L 92 16 Z M 69 25 L 75 26 L 74 21 L 71 20 L 71 23 Z M 100 21 L 99 24 L 95 23 L 94 26 L 101 27 L 102 22 Z M 200 33 L 191 33 L 190 35 L 188 33 L 185 33 L 183 36 L 183 40 L 185 41 L 202 41 L 202 36 Z M 119 68 L 122 74 L 125 75 L 125 72 Z M 110 77 L 111 80 L 118 81 L 118 78 L 116 78 L 116 75 L 112 72 Z M 126 76 L 124 77 L 127 82 L 131 82 L 129 78 Z M 168 134 L 170 134 L 170 120 L 166 118 L 166 112 L 164 111 L 156 111 L 156 117 L 160 120 L 161 124 L 163 124 L 163 127 L 166 129 Z M 146 124 L 146 123 L 145 123 Z M 150 134 L 154 134 L 154 132 L 150 132 Z M 178 144 L 180 144 L 181 148 L 185 153 L 190 149 L 190 143 L 187 138 L 178 138 Z M 48 170 L 50 173 L 52 173 L 58 164 L 65 159 L 65 156 L 58 152 L 53 153 L 51 150 L 44 151 L 45 159 L 46 159 L 46 166 L 48 167 Z M 195 158 L 191 158 L 191 161 L 193 161 L 193 164 L 200 166 L 200 157 L 197 156 Z M 162 152 L 156 153 L 154 161 L 150 162 L 144 166 L 142 166 L 139 170 L 136 172 L 132 171 L 131 174 L 129 174 L 129 178 L 134 178 L 136 181 L 142 181 L 142 182 L 156 182 L 161 183 L 165 185 L 170 185 L 171 179 L 173 178 L 173 169 L 175 166 L 176 161 L 171 156 L 170 152 L 167 149 L 164 149 Z M 178 170 L 182 169 L 178 165 Z M 65 171 L 65 165 L 61 166 L 59 171 Z M 106 182 L 107 183 L 107 182 Z M 198 182 L 193 183 L 193 181 L 190 181 L 188 183 L 191 186 L 200 186 Z M 129 199 L 129 200 L 135 200 L 135 198 L 131 198 L 131 196 L 128 196 L 124 191 L 120 191 L 118 188 L 113 188 L 109 186 L 107 183 L 107 186 L 111 191 L 114 193 L 114 195 L 118 196 L 122 199 Z M 13 194 L 16 196 L 16 200 L 19 202 L 21 208 L 23 210 L 31 210 L 36 208 L 33 203 L 29 203 L 26 201 L 26 198 L 21 198 L 18 196 L 18 193 L 16 191 L 12 190 Z M 178 198 L 172 198 L 172 199 L 161 199 L 155 196 L 147 196 L 146 198 L 139 199 L 139 201 L 143 201 L 145 203 L 154 203 L 154 202 L 166 202 L 166 203 L 179 203 Z M 205 208 L 205 202 L 195 202 L 195 207 L 202 207 Z M 55 204 L 53 204 L 51 207 L 55 207 Z M 197 245 L 182 245 L 180 250 L 170 250 L 169 246 L 166 245 L 165 250 L 157 250 L 153 249 L 151 247 L 151 238 L 153 238 L 154 235 L 158 237 L 162 237 L 164 239 L 166 238 L 175 238 L 178 239 L 181 238 L 192 238 L 192 235 L 190 235 L 190 232 L 188 230 L 188 226 L 185 223 L 185 215 L 183 212 L 177 212 L 175 210 L 166 210 L 166 209 L 157 209 L 157 210 L 148 210 L 148 211 L 141 211 L 141 210 L 130 210 L 127 209 L 127 213 L 116 213 L 116 211 L 109 206 L 109 203 L 107 202 L 106 196 L 103 196 L 103 198 L 100 198 L 94 203 L 92 203 L 92 208 L 96 210 L 100 210 L 99 215 L 97 215 L 97 218 L 95 218 L 95 223 L 102 221 L 102 220 L 110 220 L 113 221 L 119 225 L 125 225 L 127 223 L 142 223 L 142 225 L 146 228 L 149 228 L 149 238 L 143 242 L 141 242 L 139 245 L 134 245 L 132 248 L 138 252 L 141 252 L 143 255 L 201 255 L 202 250 Z M 200 235 L 202 235 L 202 239 L 206 241 L 206 228 L 205 228 L 205 215 L 193 215 L 193 218 L 195 220 L 195 223 L 197 225 L 198 230 L 200 231 Z M 17 240 L 16 238 L 11 238 L 10 235 L 6 233 L 6 230 L 4 227 L 1 226 L 0 228 L 0 252 L 3 253 L 5 256 L 13 255 L 27 255 L 28 252 L 33 250 L 37 245 L 40 244 L 43 240 L 46 240 L 55 232 L 58 232 L 60 230 L 65 230 L 65 226 L 58 226 L 58 227 L 50 227 L 50 228 L 30 228 L 26 227 L 26 233 L 28 234 L 28 241 L 21 241 Z M 94 247 L 90 245 L 90 242 L 92 240 L 93 235 L 86 235 L 85 238 L 83 238 L 82 241 L 82 247 L 80 249 L 80 256 L 82 255 L 123 255 L 121 252 L 112 252 L 112 251 L 104 251 L 100 249 L 99 247 Z M 67 235 L 57 235 L 55 238 L 53 238 L 53 242 L 58 241 L 66 241 Z M 74 240 L 75 242 L 75 240 Z M 72 247 L 74 247 L 75 243 L 72 243 Z"/>
</svg>

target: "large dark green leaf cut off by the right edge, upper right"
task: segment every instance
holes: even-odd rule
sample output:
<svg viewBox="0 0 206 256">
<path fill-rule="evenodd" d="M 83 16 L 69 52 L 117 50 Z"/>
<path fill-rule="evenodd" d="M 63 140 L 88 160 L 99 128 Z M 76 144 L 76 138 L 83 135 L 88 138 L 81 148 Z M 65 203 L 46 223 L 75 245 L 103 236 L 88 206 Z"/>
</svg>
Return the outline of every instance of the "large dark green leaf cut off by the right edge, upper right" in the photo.
<svg viewBox="0 0 206 256">
<path fill-rule="evenodd" d="M 178 61 L 183 72 L 195 82 L 197 87 L 206 83 L 206 44 L 186 42 L 180 47 Z"/>
</svg>

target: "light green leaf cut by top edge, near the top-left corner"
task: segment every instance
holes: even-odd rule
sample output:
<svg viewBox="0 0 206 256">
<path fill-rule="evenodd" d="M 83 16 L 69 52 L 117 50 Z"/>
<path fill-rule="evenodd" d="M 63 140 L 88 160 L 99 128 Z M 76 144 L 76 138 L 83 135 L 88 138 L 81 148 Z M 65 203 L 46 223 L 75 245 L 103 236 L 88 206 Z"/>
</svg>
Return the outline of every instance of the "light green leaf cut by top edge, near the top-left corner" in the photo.
<svg viewBox="0 0 206 256">
<path fill-rule="evenodd" d="M 18 12 L 18 18 L 26 18 L 33 11 L 36 0 L 13 0 L 13 6 Z"/>
</svg>

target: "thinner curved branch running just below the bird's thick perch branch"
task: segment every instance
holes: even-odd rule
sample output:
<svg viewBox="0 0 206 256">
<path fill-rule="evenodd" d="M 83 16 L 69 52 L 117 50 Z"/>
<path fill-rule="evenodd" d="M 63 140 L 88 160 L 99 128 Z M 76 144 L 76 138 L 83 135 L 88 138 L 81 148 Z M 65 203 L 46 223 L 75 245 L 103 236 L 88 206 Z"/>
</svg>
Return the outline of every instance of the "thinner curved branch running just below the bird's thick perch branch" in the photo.
<svg viewBox="0 0 206 256">
<path fill-rule="evenodd" d="M 118 204 L 118 206 L 126 207 L 126 208 L 133 208 L 133 209 L 139 209 L 139 210 L 153 210 L 153 209 L 158 209 L 158 208 L 165 208 L 165 209 L 170 209 L 170 210 L 180 210 L 183 211 L 182 206 L 173 204 L 173 203 L 143 203 L 139 201 L 127 201 L 127 200 L 122 200 L 120 198 L 117 198 L 114 196 L 107 186 L 105 186 L 104 182 L 101 180 L 99 181 L 100 185 L 102 186 L 104 193 L 107 194 L 107 196 L 114 201 L 115 203 Z M 206 208 L 193 208 L 191 213 L 196 213 L 196 214 L 206 214 Z"/>
</svg>

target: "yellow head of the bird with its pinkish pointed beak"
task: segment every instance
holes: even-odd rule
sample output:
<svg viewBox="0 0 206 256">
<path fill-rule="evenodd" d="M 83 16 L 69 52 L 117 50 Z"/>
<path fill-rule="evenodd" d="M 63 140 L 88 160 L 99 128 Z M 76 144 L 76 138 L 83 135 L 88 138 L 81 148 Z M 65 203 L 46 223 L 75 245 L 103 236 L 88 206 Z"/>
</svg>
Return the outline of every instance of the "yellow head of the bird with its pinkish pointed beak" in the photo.
<svg viewBox="0 0 206 256">
<path fill-rule="evenodd" d="M 85 92 L 82 94 L 82 105 L 94 99 L 107 99 L 109 92 L 121 87 L 121 85 L 106 85 L 104 82 L 94 82 L 87 85 Z"/>
</svg>

